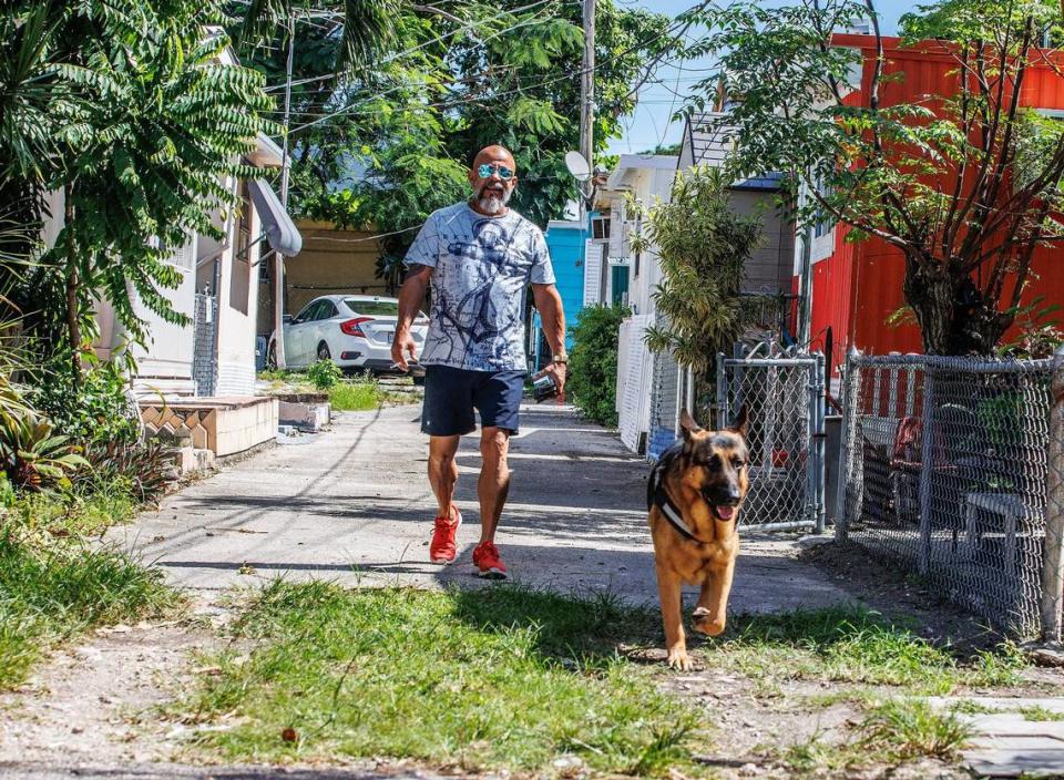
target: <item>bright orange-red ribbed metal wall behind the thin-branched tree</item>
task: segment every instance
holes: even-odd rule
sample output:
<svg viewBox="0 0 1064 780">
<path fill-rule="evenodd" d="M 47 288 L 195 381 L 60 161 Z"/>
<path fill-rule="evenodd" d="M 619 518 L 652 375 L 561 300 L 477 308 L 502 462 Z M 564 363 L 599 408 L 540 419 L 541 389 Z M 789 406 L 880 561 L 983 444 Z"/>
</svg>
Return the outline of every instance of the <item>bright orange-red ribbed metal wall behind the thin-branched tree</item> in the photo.
<svg viewBox="0 0 1064 780">
<path fill-rule="evenodd" d="M 836 35 L 836 45 L 858 47 L 864 50 L 862 91 L 855 92 L 847 102 L 863 102 L 872 75 L 874 43 L 870 35 Z M 886 39 L 887 63 L 884 74 L 903 72 L 900 80 L 888 79 L 880 85 L 880 102 L 925 100 L 933 105 L 934 95 L 953 94 L 958 89 L 955 62 L 933 50 L 903 50 L 899 39 Z M 937 44 L 930 44 L 934 47 Z M 1022 91 L 1023 105 L 1040 109 L 1064 109 L 1064 79 L 1047 66 L 1031 68 Z M 835 336 L 835 361 L 845 358 L 849 346 L 863 352 L 884 355 L 891 351 L 922 351 L 919 330 L 913 326 L 891 327 L 887 317 L 903 304 L 902 283 L 904 260 L 901 253 L 884 242 L 870 238 L 858 244 L 845 244 L 841 229 L 836 230 L 835 254 L 814 265 L 812 328 L 814 348 L 822 349 L 822 332 L 831 326 Z M 1064 248 L 1041 247 L 1033 260 L 1033 273 L 1023 295 L 1029 304 L 1044 297 L 1040 305 L 1062 307 L 1064 321 Z M 1054 316 L 1056 317 L 1056 316 Z M 1051 317 L 1054 318 L 1054 317 Z M 1019 327 L 1006 335 L 1016 336 Z"/>
</svg>

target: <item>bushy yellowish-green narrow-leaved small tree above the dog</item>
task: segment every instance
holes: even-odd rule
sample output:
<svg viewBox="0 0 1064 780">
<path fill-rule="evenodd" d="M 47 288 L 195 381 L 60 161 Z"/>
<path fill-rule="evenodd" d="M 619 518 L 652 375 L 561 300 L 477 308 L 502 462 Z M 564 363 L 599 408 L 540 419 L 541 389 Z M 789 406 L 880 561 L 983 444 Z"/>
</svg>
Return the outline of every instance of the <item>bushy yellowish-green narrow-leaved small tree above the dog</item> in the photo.
<svg viewBox="0 0 1064 780">
<path fill-rule="evenodd" d="M 647 329 L 647 346 L 702 374 L 743 330 L 743 270 L 761 243 L 760 217 L 735 213 L 729 182 L 712 166 L 677 175 L 668 203 L 649 208 L 632 246 L 654 245 L 661 258 L 654 299 L 667 325 Z"/>
</svg>

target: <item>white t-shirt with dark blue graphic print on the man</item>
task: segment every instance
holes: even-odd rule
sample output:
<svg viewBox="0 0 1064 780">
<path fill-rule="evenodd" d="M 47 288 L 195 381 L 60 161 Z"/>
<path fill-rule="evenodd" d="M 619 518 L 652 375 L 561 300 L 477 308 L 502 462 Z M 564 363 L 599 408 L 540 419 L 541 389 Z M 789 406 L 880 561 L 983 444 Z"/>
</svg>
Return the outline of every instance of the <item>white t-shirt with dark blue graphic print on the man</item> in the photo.
<svg viewBox="0 0 1064 780">
<path fill-rule="evenodd" d="M 554 283 L 543 232 L 510 209 L 487 217 L 458 203 L 433 212 L 406 264 L 431 266 L 432 307 L 421 362 L 524 371 L 529 283 Z"/>
</svg>

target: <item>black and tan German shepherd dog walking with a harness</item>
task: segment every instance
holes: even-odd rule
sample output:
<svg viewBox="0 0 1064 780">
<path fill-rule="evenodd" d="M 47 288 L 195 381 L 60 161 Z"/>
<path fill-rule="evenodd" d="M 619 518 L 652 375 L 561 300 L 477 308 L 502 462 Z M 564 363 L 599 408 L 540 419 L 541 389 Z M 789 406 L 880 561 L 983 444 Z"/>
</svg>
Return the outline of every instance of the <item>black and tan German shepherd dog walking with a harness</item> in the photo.
<svg viewBox="0 0 1064 780">
<path fill-rule="evenodd" d="M 681 588 L 684 583 L 702 586 L 694 629 L 720 634 L 739 553 L 737 523 L 749 488 L 749 453 L 745 407 L 733 427 L 720 431 L 704 431 L 686 410 L 679 424 L 683 440 L 651 471 L 646 503 L 668 665 L 687 670 Z"/>
</svg>

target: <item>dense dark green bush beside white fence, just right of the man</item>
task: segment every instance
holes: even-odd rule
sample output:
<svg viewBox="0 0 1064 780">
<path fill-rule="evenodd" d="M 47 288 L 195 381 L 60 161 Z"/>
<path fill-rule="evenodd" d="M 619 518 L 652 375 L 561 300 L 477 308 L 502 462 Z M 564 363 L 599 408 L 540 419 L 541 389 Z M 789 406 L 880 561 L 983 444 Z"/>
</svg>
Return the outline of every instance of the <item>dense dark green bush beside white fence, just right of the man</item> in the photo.
<svg viewBox="0 0 1064 780">
<path fill-rule="evenodd" d="M 626 306 L 589 306 L 572 328 L 566 393 L 586 417 L 611 428 L 617 424 L 618 329 L 631 314 Z"/>
</svg>

